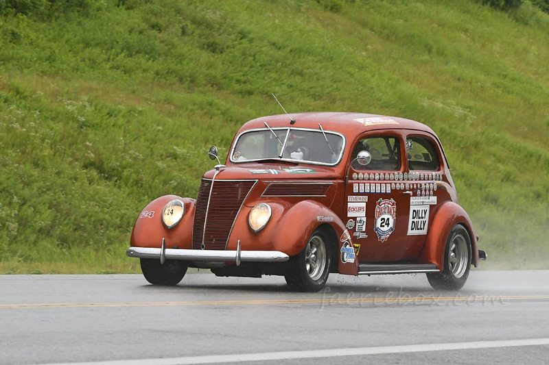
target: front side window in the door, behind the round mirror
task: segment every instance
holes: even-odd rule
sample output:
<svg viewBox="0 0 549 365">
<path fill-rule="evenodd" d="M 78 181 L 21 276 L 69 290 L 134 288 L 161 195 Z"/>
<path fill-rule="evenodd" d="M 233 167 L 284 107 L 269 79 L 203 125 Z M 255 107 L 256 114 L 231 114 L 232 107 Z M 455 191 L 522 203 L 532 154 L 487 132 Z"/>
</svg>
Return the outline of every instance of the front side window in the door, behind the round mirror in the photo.
<svg viewBox="0 0 549 365">
<path fill-rule="evenodd" d="M 352 166 L 355 170 L 397 171 L 400 169 L 400 148 L 396 137 L 363 138 L 353 149 L 353 159 L 360 151 L 368 151 L 372 160 L 366 166 L 361 166 L 357 161 L 353 162 Z"/>
</svg>

